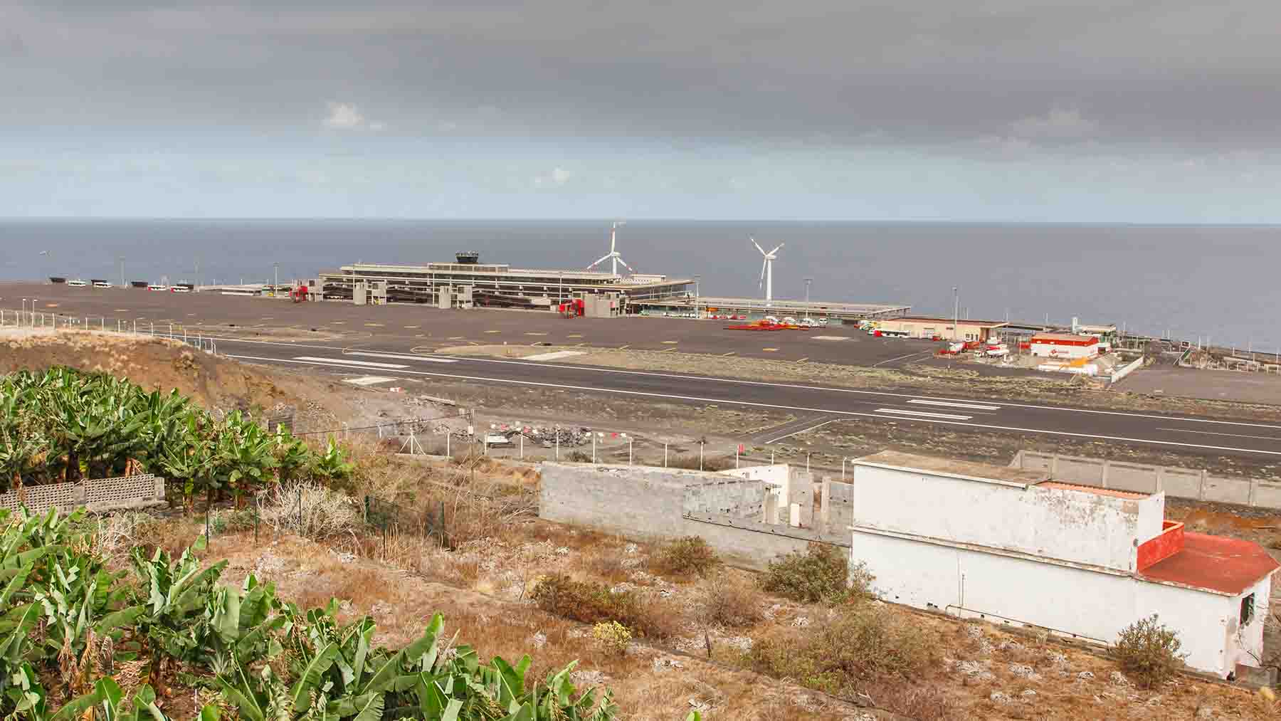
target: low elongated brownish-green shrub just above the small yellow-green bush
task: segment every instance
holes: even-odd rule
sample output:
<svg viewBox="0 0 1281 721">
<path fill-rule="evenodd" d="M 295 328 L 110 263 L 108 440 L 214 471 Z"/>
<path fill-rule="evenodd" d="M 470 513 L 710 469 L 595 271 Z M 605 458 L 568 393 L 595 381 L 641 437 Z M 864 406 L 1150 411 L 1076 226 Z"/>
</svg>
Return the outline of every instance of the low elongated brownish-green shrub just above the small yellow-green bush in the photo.
<svg viewBox="0 0 1281 721">
<path fill-rule="evenodd" d="M 665 599 L 566 575 L 539 579 L 530 598 L 548 613 L 593 625 L 617 621 L 640 636 L 661 639 L 680 630 L 679 612 Z"/>
</svg>

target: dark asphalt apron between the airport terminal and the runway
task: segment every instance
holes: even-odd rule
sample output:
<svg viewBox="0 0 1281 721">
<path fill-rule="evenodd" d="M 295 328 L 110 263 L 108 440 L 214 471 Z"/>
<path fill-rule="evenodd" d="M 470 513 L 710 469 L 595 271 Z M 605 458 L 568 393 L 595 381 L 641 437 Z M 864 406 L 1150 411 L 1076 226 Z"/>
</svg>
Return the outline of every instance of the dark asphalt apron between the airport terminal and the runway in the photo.
<svg viewBox="0 0 1281 721">
<path fill-rule="evenodd" d="M 23 300 L 26 298 L 26 300 Z M 776 360 L 893 368 L 930 359 L 936 343 L 874 338 L 856 325 L 833 320 L 801 330 L 730 330 L 734 321 L 676 318 L 565 319 L 520 310 L 438 310 L 416 305 L 356 306 L 322 301 L 168 293 L 145 288 L 70 288 L 47 283 L 0 284 L 0 307 L 24 306 L 59 316 L 91 318 L 91 324 L 123 321 L 169 324 L 206 336 L 234 334 L 305 343 L 434 350 L 459 344 L 629 347 L 637 350 L 735 355 Z M 10 315 L 10 321 L 12 321 Z M 149 325 L 150 328 L 150 325 Z"/>
</svg>

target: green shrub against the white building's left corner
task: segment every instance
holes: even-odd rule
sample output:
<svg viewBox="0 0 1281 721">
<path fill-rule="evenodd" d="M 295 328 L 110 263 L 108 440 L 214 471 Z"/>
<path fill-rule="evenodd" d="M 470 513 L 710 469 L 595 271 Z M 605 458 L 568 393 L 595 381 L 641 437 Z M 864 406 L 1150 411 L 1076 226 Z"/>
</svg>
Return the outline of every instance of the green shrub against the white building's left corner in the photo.
<svg viewBox="0 0 1281 721">
<path fill-rule="evenodd" d="M 836 547 L 811 543 L 804 553 L 771 561 L 761 576 L 761 588 L 802 603 L 844 603 L 871 595 L 872 580 L 863 563 L 851 572 L 849 560 Z"/>
</svg>

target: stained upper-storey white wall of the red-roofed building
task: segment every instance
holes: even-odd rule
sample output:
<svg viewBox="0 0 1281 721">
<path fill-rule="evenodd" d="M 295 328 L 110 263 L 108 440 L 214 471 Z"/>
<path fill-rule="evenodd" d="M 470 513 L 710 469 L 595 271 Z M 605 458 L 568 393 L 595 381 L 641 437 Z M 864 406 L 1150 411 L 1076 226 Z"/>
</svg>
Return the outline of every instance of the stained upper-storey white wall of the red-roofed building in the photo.
<svg viewBox="0 0 1281 721">
<path fill-rule="evenodd" d="M 1161 497 L 1136 501 L 866 465 L 854 465 L 853 487 L 856 526 L 1122 571 L 1135 570 L 1138 544 L 1161 533 Z M 1152 506 L 1141 514 L 1141 530 L 1140 506 Z"/>
</svg>

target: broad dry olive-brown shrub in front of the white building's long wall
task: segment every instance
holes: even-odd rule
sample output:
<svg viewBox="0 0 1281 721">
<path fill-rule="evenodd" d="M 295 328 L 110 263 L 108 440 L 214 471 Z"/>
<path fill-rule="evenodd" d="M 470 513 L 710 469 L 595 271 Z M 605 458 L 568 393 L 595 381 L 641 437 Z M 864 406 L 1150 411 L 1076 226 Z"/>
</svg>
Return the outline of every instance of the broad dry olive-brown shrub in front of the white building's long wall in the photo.
<svg viewBox="0 0 1281 721">
<path fill-rule="evenodd" d="M 885 608 L 858 606 L 757 639 L 744 660 L 761 674 L 851 697 L 869 680 L 917 676 L 933 652 L 917 626 Z"/>
</svg>

